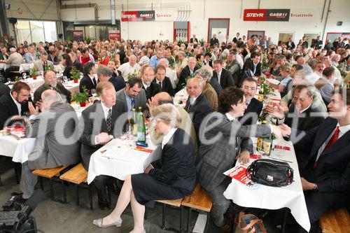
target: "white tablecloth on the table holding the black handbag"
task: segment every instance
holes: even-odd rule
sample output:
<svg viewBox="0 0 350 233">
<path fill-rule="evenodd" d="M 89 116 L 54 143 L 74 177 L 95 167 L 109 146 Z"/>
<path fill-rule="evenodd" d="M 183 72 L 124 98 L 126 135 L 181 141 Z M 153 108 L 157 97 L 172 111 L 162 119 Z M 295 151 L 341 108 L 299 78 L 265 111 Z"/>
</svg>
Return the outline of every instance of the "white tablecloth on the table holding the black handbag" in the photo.
<svg viewBox="0 0 350 233">
<path fill-rule="evenodd" d="M 302 184 L 300 181 L 299 169 L 297 168 L 297 160 L 293 144 L 284 142 L 290 150 L 283 150 L 283 155 L 276 155 L 274 151 L 272 155 L 264 159 L 276 159 L 277 161 L 288 160 L 288 164 L 294 170 L 294 181 L 285 187 L 276 188 L 266 185 L 254 185 L 248 187 L 232 178 L 232 183 L 228 185 L 223 195 L 227 199 L 232 199 L 232 202 L 239 206 L 253 207 L 260 209 L 281 209 L 287 207 L 290 209 L 297 223 L 302 226 L 307 232 L 310 230 L 309 215 L 305 204 L 304 192 L 302 192 Z M 251 159 L 250 163 L 253 162 Z M 284 161 L 281 161 L 284 162 Z M 237 162 L 236 167 L 244 166 Z"/>
</svg>

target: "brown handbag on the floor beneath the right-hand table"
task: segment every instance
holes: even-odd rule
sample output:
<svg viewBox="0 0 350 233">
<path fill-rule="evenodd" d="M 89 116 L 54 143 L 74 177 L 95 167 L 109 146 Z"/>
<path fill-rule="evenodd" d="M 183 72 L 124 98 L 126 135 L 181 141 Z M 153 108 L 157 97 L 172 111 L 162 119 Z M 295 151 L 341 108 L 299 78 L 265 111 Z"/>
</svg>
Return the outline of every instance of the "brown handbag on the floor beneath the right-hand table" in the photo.
<svg viewBox="0 0 350 233">
<path fill-rule="evenodd" d="M 267 233 L 262 220 L 253 214 L 240 212 L 238 219 L 235 233 Z"/>
</svg>

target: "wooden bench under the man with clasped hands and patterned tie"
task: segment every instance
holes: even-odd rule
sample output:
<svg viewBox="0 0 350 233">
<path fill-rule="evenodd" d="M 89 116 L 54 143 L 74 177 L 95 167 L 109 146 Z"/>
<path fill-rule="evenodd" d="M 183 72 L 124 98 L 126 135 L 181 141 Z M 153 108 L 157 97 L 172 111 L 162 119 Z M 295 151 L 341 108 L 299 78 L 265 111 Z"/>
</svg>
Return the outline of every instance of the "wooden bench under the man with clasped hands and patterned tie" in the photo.
<svg viewBox="0 0 350 233">
<path fill-rule="evenodd" d="M 78 186 L 82 183 L 87 183 L 87 171 L 84 169 L 83 164 L 78 164 L 76 167 L 73 167 L 69 171 L 66 171 L 63 175 L 59 176 L 63 181 L 68 181 L 74 183 L 76 186 L 76 205 L 79 206 L 79 189 Z M 91 185 L 87 185 L 89 189 L 89 200 L 90 200 L 90 209 L 93 209 L 92 206 L 92 190 Z M 65 189 L 64 189 L 65 192 Z"/>
</svg>

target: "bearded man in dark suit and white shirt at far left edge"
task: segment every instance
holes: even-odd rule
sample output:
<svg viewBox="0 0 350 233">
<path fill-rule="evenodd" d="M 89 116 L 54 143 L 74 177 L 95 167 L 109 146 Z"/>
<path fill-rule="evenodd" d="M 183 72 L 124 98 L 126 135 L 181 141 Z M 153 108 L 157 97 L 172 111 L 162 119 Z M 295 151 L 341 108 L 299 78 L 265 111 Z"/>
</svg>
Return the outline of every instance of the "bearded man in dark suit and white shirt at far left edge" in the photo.
<svg viewBox="0 0 350 233">
<path fill-rule="evenodd" d="M 3 94 L 0 97 L 0 129 L 20 120 L 20 118 L 14 118 L 14 116 L 24 115 L 25 112 L 28 112 L 29 105 L 32 106 L 29 101 L 30 87 L 24 82 L 15 83 L 10 92 Z M 31 114 L 33 113 L 31 112 Z"/>
</svg>

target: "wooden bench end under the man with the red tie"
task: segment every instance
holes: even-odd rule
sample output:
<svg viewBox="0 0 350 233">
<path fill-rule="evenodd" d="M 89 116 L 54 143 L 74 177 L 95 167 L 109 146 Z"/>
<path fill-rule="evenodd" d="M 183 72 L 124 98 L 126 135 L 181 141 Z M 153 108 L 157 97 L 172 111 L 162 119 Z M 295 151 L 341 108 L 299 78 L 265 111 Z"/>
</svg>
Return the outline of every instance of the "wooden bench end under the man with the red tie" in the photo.
<svg viewBox="0 0 350 233">
<path fill-rule="evenodd" d="M 343 208 L 330 211 L 320 218 L 323 233 L 347 233 L 350 232 L 349 212 Z"/>
</svg>

